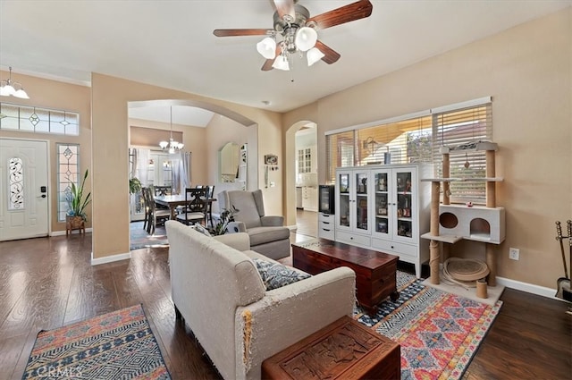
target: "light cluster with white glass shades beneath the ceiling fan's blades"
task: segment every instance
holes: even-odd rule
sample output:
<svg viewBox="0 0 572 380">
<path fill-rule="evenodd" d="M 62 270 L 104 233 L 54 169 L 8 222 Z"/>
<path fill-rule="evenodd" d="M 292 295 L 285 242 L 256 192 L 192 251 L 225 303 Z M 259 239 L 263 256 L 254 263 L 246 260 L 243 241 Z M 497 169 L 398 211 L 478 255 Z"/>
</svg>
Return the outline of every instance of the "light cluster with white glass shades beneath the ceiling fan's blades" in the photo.
<svg viewBox="0 0 572 380">
<path fill-rule="evenodd" d="M 306 53 L 308 66 L 324 57 L 324 53 L 315 47 L 318 39 L 316 23 L 307 21 L 309 17 L 310 13 L 300 5 L 296 7 L 296 18 L 290 14 L 284 14 L 281 18 L 278 13 L 274 13 L 274 30 L 269 31 L 270 35 L 257 43 L 258 53 L 266 59 L 274 60 L 274 69 L 289 71 L 290 55 L 303 56 Z M 279 46 L 278 50 L 276 46 Z"/>
</svg>

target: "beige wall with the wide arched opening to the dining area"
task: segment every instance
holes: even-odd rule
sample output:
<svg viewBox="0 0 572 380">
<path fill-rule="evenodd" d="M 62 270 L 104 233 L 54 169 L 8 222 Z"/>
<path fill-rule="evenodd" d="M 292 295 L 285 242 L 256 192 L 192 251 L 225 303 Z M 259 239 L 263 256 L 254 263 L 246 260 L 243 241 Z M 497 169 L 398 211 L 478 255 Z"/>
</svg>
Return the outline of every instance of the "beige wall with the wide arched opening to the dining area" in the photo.
<svg viewBox="0 0 572 380">
<path fill-rule="evenodd" d="M 96 259 L 129 252 L 129 192 L 125 186 L 128 179 L 128 102 L 156 99 L 200 102 L 214 112 L 240 119 L 243 125 L 257 124 L 258 143 L 265 141 L 271 148 L 281 145 L 278 114 L 98 73 L 92 73 L 91 90 L 92 144 L 97 147 L 92 157 L 93 258 Z M 193 157 L 196 156 L 193 152 Z M 193 161 L 197 162 L 195 158 Z M 270 205 L 281 204 L 282 191 L 278 198 L 272 192 L 265 192 L 265 201 Z M 109 217 L 109 210 L 113 210 L 114 217 Z"/>
</svg>

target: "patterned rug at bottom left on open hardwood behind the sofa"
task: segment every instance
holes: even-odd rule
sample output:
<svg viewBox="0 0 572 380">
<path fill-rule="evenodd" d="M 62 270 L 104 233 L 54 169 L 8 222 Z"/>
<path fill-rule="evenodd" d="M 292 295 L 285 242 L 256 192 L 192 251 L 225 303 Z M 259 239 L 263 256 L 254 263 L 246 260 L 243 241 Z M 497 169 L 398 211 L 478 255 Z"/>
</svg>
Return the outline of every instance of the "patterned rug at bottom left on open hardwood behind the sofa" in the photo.
<svg viewBox="0 0 572 380">
<path fill-rule="evenodd" d="M 22 379 L 170 379 L 141 305 L 41 331 Z"/>
</svg>

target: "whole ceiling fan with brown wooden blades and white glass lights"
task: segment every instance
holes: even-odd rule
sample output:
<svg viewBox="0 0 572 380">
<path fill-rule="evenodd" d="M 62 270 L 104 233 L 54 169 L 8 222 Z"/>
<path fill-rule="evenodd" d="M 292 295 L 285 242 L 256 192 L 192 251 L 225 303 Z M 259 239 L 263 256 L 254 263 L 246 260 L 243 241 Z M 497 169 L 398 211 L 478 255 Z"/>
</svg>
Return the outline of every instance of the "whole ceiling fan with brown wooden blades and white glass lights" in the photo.
<svg viewBox="0 0 572 380">
<path fill-rule="evenodd" d="M 349 21 L 364 19 L 372 14 L 369 0 L 336 8 L 332 11 L 310 17 L 307 8 L 298 0 L 273 0 L 276 12 L 273 29 L 216 29 L 216 37 L 266 36 L 258 42 L 258 53 L 266 58 L 263 71 L 272 69 L 290 70 L 290 55 L 307 55 L 307 65 L 319 60 L 332 64 L 340 54 L 317 39 L 316 30 L 324 30 Z"/>
</svg>

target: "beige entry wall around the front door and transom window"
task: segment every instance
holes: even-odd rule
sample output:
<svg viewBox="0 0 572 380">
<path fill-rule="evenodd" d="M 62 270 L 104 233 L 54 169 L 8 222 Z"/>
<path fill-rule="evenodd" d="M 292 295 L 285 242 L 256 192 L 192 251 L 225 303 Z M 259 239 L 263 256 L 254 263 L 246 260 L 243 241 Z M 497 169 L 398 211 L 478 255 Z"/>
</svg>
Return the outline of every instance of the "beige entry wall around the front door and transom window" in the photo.
<svg viewBox="0 0 572 380">
<path fill-rule="evenodd" d="M 57 155 L 56 143 L 80 144 L 80 173 L 91 167 L 91 107 L 89 104 L 90 90 L 86 86 L 63 83 L 55 80 L 45 80 L 21 74 L 12 74 L 13 80 L 21 82 L 30 99 L 17 97 L 2 97 L 0 100 L 22 106 L 38 106 L 80 114 L 80 136 L 63 136 L 48 133 L 32 133 L 19 131 L 2 131 L 0 137 L 14 139 L 41 139 L 48 141 L 50 183 L 48 197 L 50 199 L 51 218 L 49 231 L 65 231 L 65 222 L 57 221 L 56 175 Z M 2 78 L 7 78 L 8 72 L 2 72 Z M 46 90 L 49 89 L 49 90 Z M 91 175 L 86 181 L 86 187 L 91 190 Z M 91 227 L 91 209 L 88 207 L 88 224 Z"/>
</svg>

